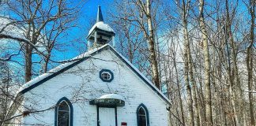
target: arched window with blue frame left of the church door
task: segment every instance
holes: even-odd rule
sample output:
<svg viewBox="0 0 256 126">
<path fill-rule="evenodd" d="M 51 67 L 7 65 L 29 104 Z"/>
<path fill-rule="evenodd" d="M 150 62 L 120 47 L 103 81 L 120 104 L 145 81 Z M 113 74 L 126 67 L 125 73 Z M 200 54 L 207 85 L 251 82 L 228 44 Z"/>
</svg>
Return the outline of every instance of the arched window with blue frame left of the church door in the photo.
<svg viewBox="0 0 256 126">
<path fill-rule="evenodd" d="M 73 125 L 73 106 L 66 97 L 61 98 L 55 107 L 55 126 Z"/>
</svg>

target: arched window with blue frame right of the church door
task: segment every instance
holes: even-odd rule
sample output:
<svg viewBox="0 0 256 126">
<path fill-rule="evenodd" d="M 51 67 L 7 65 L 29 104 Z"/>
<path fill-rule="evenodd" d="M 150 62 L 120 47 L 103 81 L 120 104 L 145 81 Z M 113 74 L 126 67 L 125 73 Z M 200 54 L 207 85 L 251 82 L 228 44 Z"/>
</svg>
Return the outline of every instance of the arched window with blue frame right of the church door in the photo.
<svg viewBox="0 0 256 126">
<path fill-rule="evenodd" d="M 137 107 L 137 126 L 149 126 L 149 112 L 143 104 Z"/>
</svg>

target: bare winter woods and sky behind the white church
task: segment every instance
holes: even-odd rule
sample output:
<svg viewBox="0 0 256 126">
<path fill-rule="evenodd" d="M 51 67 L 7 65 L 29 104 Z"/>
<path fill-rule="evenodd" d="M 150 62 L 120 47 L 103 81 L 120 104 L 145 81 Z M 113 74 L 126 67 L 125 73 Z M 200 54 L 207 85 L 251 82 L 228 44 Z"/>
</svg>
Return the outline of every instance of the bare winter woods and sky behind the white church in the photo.
<svg viewBox="0 0 256 126">
<path fill-rule="evenodd" d="M 254 0 L 103 3 L 115 48 L 170 99 L 170 125 L 255 125 Z M 0 124 L 23 83 L 86 51 L 87 4 L 0 1 Z"/>
</svg>

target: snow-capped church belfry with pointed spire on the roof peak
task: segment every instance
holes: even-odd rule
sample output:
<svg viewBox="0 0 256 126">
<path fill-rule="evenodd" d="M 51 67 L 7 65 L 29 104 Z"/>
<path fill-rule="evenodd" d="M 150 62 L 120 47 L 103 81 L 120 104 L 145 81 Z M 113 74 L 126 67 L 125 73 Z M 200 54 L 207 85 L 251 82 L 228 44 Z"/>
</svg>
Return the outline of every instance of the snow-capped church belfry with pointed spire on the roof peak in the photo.
<svg viewBox="0 0 256 126">
<path fill-rule="evenodd" d="M 103 46 L 104 44 L 107 44 L 112 39 L 114 39 L 114 36 L 114 30 L 108 24 L 104 24 L 104 19 L 101 13 L 100 6 L 98 6 L 96 24 L 92 26 L 86 38 L 88 40 L 88 43 L 92 43 L 92 46 L 90 46 L 90 48 Z"/>
</svg>

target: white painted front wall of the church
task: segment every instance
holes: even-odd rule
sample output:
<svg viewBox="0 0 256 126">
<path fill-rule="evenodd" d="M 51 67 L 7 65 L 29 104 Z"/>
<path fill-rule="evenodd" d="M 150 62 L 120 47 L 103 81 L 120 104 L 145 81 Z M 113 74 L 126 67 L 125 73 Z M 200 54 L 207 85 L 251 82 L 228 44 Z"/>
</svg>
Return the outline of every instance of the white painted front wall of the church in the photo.
<svg viewBox="0 0 256 126">
<path fill-rule="evenodd" d="M 111 83 L 100 80 L 101 69 L 110 69 L 114 73 Z M 103 50 L 100 54 L 28 91 L 24 94 L 24 106 L 36 110 L 48 109 L 55 106 L 60 98 L 66 97 L 73 102 L 74 126 L 96 126 L 96 106 L 89 105 L 89 101 L 110 93 L 125 98 L 126 106 L 117 109 L 118 125 L 127 122 L 130 126 L 136 126 L 136 110 L 141 103 L 149 110 L 151 126 L 168 125 L 167 103 L 111 50 Z M 24 117 L 23 123 L 54 125 L 55 109 Z"/>
</svg>

